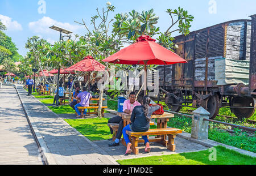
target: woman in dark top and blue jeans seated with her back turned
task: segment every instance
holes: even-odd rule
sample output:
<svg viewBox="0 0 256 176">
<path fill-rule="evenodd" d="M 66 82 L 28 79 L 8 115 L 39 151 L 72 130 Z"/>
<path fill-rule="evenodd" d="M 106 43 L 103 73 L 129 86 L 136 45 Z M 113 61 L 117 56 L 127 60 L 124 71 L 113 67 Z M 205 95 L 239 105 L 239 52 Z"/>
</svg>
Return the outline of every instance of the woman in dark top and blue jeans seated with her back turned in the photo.
<svg viewBox="0 0 256 176">
<path fill-rule="evenodd" d="M 127 131 L 134 132 L 146 132 L 150 128 L 151 115 L 154 111 L 160 109 L 159 105 L 152 104 L 150 106 L 151 99 L 148 96 L 144 96 L 142 100 L 142 106 L 136 106 L 131 113 L 131 123 L 123 128 L 123 138 L 127 144 L 127 149 L 125 154 L 131 154 L 131 141 L 129 136 L 126 134 Z M 146 143 L 145 152 L 150 152 L 150 143 L 147 136 L 142 136 L 142 139 Z"/>
</svg>

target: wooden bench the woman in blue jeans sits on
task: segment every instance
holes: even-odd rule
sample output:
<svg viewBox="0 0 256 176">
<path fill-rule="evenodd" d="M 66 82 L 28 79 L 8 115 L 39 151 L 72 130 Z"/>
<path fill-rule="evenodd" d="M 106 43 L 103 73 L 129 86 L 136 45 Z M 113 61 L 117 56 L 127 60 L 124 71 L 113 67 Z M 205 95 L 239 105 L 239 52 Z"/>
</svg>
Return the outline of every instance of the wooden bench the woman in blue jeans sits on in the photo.
<svg viewBox="0 0 256 176">
<path fill-rule="evenodd" d="M 147 132 L 134 132 L 134 131 L 126 131 L 126 134 L 131 137 L 131 150 L 134 154 L 139 154 L 138 142 L 139 136 L 149 136 L 149 135 L 167 135 L 168 141 L 166 140 L 166 147 L 170 149 L 170 151 L 175 151 L 174 139 L 177 134 L 182 133 L 182 130 L 177 128 L 156 128 L 150 129 Z"/>
</svg>

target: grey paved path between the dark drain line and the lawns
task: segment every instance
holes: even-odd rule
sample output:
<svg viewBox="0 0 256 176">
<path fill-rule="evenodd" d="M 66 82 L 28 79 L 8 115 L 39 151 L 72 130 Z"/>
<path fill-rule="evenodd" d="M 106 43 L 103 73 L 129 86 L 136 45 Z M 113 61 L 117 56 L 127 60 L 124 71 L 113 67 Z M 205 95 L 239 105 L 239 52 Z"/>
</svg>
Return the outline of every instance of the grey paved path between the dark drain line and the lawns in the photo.
<svg viewBox="0 0 256 176">
<path fill-rule="evenodd" d="M 113 157 L 69 126 L 39 100 L 26 96 L 27 91 L 21 85 L 16 88 L 43 144 L 42 148 L 47 153 L 49 164 L 117 164 Z"/>
</svg>

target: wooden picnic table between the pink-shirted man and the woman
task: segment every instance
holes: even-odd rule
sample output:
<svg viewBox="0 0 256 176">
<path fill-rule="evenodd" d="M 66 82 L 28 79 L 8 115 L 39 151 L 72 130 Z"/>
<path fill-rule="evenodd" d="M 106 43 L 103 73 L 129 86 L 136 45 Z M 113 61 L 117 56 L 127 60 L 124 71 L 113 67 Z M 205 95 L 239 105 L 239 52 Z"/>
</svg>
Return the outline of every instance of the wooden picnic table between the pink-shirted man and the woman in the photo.
<svg viewBox="0 0 256 176">
<path fill-rule="evenodd" d="M 123 127 L 130 124 L 131 114 L 117 113 L 117 115 L 122 117 Z M 157 119 L 156 120 L 157 128 L 167 128 L 167 122 L 169 121 L 170 118 L 173 118 L 173 117 L 174 117 L 174 114 L 166 113 L 166 112 L 164 112 L 164 114 L 162 114 L 162 115 L 154 115 L 154 114 L 151 115 L 152 119 Z M 158 136 L 155 136 L 155 139 L 148 139 L 148 140 L 150 142 L 158 141 L 167 147 L 168 141 L 166 139 L 167 139 L 167 135 L 158 135 Z M 139 142 L 142 142 L 142 141 L 144 141 L 144 140 L 139 140 Z M 126 145 L 124 139 L 122 139 L 121 142 L 123 145 Z"/>
</svg>

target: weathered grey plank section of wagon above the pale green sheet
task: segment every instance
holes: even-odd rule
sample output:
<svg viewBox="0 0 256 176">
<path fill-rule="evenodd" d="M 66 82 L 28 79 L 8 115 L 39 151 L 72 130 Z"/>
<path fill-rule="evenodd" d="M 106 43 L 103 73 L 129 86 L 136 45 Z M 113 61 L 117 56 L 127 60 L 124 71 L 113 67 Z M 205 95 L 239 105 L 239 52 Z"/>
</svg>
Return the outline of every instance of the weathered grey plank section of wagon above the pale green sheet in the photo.
<svg viewBox="0 0 256 176">
<path fill-rule="evenodd" d="M 251 22 L 230 23 L 226 34 L 226 58 L 250 60 Z M 246 30 L 246 31 L 245 31 Z M 245 40 L 246 32 L 246 40 Z M 246 43 L 246 58 L 244 58 L 244 42 Z"/>
</svg>

